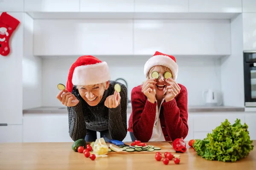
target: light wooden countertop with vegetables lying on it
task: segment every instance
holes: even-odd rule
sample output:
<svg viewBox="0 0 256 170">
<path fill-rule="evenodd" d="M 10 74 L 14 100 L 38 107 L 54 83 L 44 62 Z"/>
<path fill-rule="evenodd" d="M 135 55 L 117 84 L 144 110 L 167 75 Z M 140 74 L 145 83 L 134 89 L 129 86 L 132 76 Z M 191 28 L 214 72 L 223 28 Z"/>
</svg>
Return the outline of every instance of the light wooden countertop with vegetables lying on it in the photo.
<svg viewBox="0 0 256 170">
<path fill-rule="evenodd" d="M 154 153 L 119 154 L 92 161 L 71 149 L 73 143 L 0 144 L 0 170 L 256 170 L 256 149 L 235 163 L 207 161 L 187 146 L 180 154 L 180 164 L 168 165 L 154 159 Z M 256 145 L 256 141 L 253 141 Z"/>
</svg>

